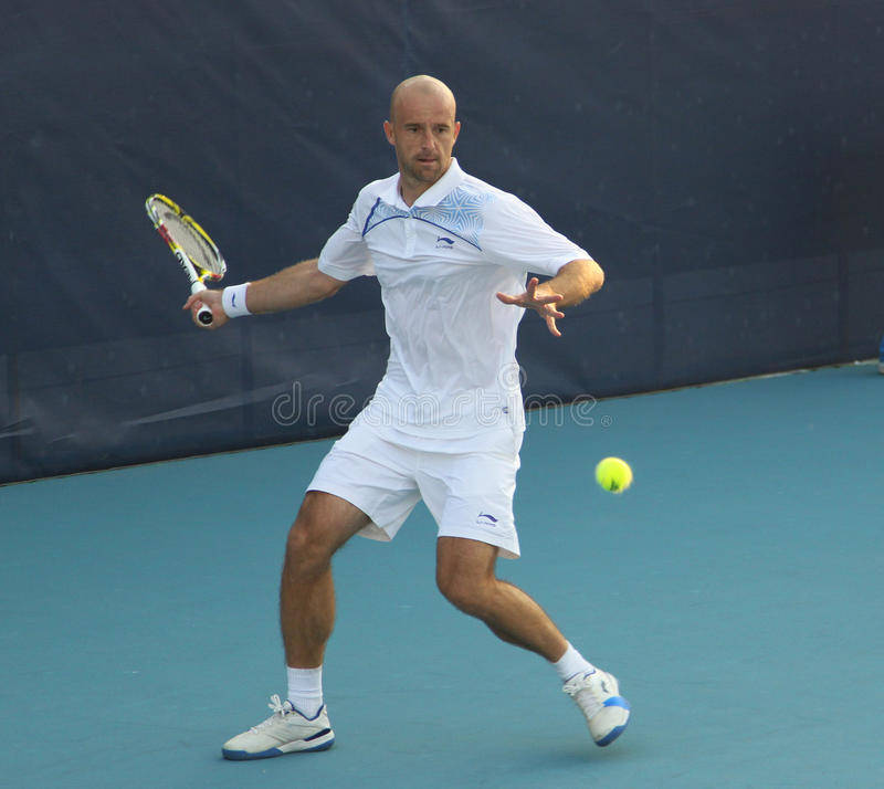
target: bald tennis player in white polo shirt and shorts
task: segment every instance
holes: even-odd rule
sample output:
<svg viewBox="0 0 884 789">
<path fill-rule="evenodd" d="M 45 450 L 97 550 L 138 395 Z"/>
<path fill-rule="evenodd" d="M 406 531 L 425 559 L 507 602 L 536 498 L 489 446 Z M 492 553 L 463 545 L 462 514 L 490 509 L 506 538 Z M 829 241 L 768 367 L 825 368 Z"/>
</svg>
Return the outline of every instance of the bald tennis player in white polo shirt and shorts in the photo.
<svg viewBox="0 0 884 789">
<path fill-rule="evenodd" d="M 323 460 L 288 534 L 280 596 L 287 697 L 272 696 L 271 717 L 224 744 L 228 759 L 332 746 L 322 685 L 335 617 L 332 556 L 356 534 L 392 539 L 419 499 L 439 526 L 441 592 L 499 639 L 545 658 L 598 745 L 627 726 L 629 704 L 614 676 L 590 664 L 528 595 L 495 575 L 498 557 L 519 555 L 518 323 L 533 309 L 560 336 L 562 307 L 582 302 L 604 277 L 585 250 L 524 202 L 461 169 L 452 157 L 460 128 L 442 82 L 406 80 L 383 124 L 399 171 L 359 192 L 319 257 L 185 305 L 201 326 L 196 311 L 207 304 L 218 328 L 377 276 L 390 336 L 375 397 Z M 528 272 L 551 278 L 526 285 Z"/>
</svg>

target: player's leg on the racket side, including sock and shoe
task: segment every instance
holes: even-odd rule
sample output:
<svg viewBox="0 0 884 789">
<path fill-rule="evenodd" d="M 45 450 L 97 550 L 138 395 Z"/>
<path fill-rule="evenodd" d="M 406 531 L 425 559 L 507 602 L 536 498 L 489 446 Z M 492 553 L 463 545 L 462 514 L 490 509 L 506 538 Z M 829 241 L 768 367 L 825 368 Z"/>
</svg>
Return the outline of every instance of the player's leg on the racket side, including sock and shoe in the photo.
<svg viewBox="0 0 884 789">
<path fill-rule="evenodd" d="M 224 758 L 265 759 L 334 744 L 322 701 L 323 656 L 335 622 L 332 557 L 368 522 L 365 513 L 338 496 L 311 491 L 304 497 L 288 533 L 280 588 L 288 698 L 273 696 L 274 714 L 228 740 Z"/>
</svg>

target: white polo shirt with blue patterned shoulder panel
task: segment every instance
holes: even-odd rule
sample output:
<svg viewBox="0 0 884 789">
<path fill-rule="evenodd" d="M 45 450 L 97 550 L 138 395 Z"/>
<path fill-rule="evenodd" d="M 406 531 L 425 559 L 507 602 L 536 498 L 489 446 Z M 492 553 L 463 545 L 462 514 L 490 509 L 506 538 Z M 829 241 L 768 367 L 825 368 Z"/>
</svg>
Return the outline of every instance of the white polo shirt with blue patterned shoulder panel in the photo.
<svg viewBox="0 0 884 789">
<path fill-rule="evenodd" d="M 399 173 L 365 187 L 323 248 L 319 271 L 336 280 L 375 275 L 390 357 L 358 419 L 397 440 L 438 448 L 482 443 L 488 430 L 524 430 L 516 332 L 528 272 L 554 276 L 589 254 L 514 194 L 461 170 L 408 207 Z"/>
</svg>

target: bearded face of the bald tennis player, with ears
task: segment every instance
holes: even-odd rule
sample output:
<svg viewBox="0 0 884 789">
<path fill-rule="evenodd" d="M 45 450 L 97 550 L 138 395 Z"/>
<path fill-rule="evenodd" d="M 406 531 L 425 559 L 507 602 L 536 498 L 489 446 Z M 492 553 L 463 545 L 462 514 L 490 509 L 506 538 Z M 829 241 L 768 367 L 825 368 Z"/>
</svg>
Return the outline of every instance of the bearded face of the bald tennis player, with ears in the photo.
<svg viewBox="0 0 884 789">
<path fill-rule="evenodd" d="M 461 130 L 454 104 L 442 94 L 421 90 L 404 92 L 397 101 L 392 120 L 383 130 L 396 146 L 399 170 L 410 189 L 425 191 L 449 169 L 451 151 Z"/>
</svg>

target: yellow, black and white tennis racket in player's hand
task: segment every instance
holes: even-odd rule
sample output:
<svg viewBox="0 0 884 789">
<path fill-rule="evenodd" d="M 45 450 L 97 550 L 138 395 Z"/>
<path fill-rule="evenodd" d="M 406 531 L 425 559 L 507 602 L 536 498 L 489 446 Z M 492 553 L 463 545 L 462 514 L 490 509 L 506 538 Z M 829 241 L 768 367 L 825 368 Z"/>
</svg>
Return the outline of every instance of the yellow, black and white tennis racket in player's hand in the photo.
<svg viewBox="0 0 884 789">
<path fill-rule="evenodd" d="M 191 293 L 204 291 L 207 280 L 218 282 L 224 276 L 228 266 L 214 241 L 177 203 L 164 194 L 151 194 L 145 201 L 145 209 L 190 280 Z M 212 311 L 200 307 L 197 320 L 208 326 L 212 323 Z"/>
</svg>

